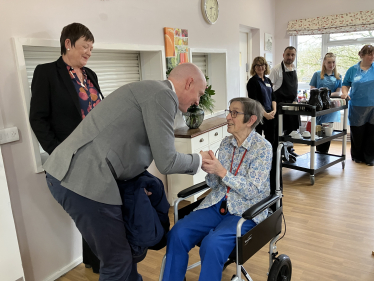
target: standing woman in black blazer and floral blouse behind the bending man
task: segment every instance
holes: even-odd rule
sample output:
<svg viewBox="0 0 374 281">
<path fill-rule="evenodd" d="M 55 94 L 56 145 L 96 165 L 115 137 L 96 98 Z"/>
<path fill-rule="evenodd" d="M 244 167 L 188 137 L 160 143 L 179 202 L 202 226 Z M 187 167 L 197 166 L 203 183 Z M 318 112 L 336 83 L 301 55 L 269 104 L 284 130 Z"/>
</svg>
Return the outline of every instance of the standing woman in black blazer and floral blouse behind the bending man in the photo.
<svg viewBox="0 0 374 281">
<path fill-rule="evenodd" d="M 61 32 L 61 57 L 35 68 L 31 83 L 30 125 L 48 154 L 62 143 L 103 98 L 96 73 L 85 67 L 94 37 L 80 23 Z M 99 273 L 100 261 L 83 239 L 83 262 Z"/>
</svg>

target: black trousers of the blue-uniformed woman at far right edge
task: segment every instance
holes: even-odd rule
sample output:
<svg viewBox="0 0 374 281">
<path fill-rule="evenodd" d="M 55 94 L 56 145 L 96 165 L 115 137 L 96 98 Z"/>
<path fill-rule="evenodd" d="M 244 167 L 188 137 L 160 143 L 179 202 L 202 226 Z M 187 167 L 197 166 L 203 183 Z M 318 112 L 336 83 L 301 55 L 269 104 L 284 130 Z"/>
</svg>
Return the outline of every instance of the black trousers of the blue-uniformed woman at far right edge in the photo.
<svg viewBox="0 0 374 281">
<path fill-rule="evenodd" d="M 374 125 L 366 123 L 350 127 L 352 159 L 367 164 L 374 163 Z"/>
</svg>

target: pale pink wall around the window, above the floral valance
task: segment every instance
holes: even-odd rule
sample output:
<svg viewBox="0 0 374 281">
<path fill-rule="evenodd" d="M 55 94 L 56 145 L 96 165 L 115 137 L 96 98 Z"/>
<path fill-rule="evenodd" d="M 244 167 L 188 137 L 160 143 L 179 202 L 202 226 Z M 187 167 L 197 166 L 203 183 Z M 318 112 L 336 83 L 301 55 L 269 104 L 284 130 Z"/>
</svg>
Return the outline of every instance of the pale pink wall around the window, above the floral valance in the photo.
<svg viewBox="0 0 374 281">
<path fill-rule="evenodd" d="M 321 17 L 374 9 L 373 0 L 277 0 L 275 1 L 275 60 L 282 61 L 284 49 L 289 45 L 286 34 L 290 20 Z"/>
</svg>

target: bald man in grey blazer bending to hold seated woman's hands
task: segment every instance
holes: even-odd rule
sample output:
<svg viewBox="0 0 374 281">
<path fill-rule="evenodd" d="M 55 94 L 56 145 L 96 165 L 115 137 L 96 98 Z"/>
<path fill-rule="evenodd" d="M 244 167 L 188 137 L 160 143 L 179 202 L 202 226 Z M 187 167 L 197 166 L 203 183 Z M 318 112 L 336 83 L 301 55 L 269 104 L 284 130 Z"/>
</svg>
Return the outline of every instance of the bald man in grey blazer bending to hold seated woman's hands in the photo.
<svg viewBox="0 0 374 281">
<path fill-rule="evenodd" d="M 199 104 L 206 80 L 194 64 L 168 80 L 122 86 L 99 103 L 44 164 L 53 197 L 72 217 L 101 261 L 100 281 L 142 280 L 126 239 L 118 183 L 143 173 L 154 160 L 163 174 L 195 174 L 207 152 L 174 147 L 174 118 Z M 150 195 L 150 194 L 149 194 Z"/>
</svg>

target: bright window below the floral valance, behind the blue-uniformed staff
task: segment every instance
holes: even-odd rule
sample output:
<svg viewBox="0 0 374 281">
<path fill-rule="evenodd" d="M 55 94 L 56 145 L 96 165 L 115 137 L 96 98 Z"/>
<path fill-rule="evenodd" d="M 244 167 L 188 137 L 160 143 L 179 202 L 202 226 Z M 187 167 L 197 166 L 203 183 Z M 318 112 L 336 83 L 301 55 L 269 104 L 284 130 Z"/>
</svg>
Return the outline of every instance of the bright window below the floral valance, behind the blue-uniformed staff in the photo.
<svg viewBox="0 0 374 281">
<path fill-rule="evenodd" d="M 348 68 L 360 61 L 358 52 L 374 44 L 374 31 L 297 36 L 297 72 L 299 89 L 309 89 L 313 73 L 321 70 L 327 52 L 336 55 L 337 69 L 344 79 Z"/>
</svg>

